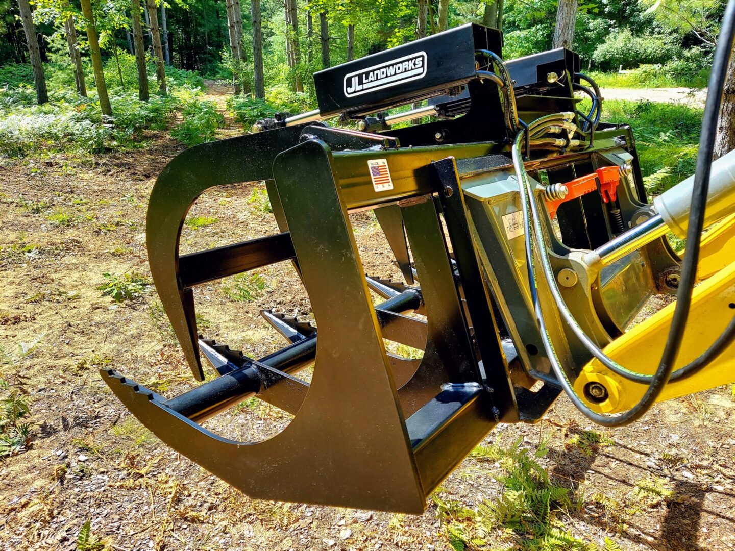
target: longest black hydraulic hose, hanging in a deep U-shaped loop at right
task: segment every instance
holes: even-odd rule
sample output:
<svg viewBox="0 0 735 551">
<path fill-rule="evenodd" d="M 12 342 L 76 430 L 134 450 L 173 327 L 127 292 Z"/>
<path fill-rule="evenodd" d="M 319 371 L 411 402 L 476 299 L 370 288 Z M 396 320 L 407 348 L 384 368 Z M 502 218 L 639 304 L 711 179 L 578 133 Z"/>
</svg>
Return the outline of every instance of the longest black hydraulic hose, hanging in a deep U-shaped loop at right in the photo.
<svg viewBox="0 0 735 551">
<path fill-rule="evenodd" d="M 677 301 L 672 317 L 669 335 L 664 346 L 664 353 L 661 355 L 659 368 L 656 374 L 650 378 L 650 383 L 645 395 L 639 402 L 625 413 L 607 417 L 592 411 L 576 394 L 572 383 L 567 378 L 564 369 L 559 362 L 556 351 L 553 348 L 553 342 L 545 326 L 545 320 L 541 311 L 538 299 L 538 289 L 536 284 L 536 270 L 534 267 L 534 250 L 531 242 L 531 220 L 534 221 L 533 233 L 535 240 L 539 243 L 539 255 L 542 258 L 542 264 L 548 263 L 548 258 L 543 251 L 544 237 L 542 228 L 539 223 L 539 216 L 533 197 L 533 190 L 528 181 L 528 174 L 523 168 L 522 159 L 518 159 L 518 147 L 520 145 L 520 133 L 517 135 L 512 148 L 514 166 L 520 184 L 521 203 L 524 211 L 524 230 L 526 231 L 526 267 L 528 270 L 529 287 L 531 288 L 531 297 L 534 300 L 534 310 L 537 314 L 539 328 L 541 328 L 542 341 L 548 353 L 549 360 L 553 367 L 559 383 L 562 384 L 564 392 L 569 395 L 570 400 L 587 418 L 605 426 L 620 426 L 633 422 L 642 417 L 655 403 L 661 394 L 666 383 L 670 380 L 673 371 L 673 365 L 681 347 L 682 336 L 686 328 L 686 320 L 691 308 L 692 292 L 696 279 L 697 263 L 700 249 L 700 237 L 704 226 L 704 209 L 706 207 L 707 192 L 709 190 L 709 174 L 711 172 L 711 157 L 714 150 L 714 138 L 717 132 L 717 118 L 720 112 L 720 104 L 724 88 L 725 76 L 727 74 L 728 62 L 731 54 L 732 45 L 735 37 L 735 0 L 729 0 L 725 7 L 725 15 L 723 17 L 723 32 L 720 35 L 720 41 L 714 54 L 713 71 L 709 81 L 709 90 L 720 90 L 720 94 L 711 94 L 707 98 L 705 113 L 702 121 L 702 133 L 700 138 L 700 155 L 698 156 L 697 170 L 695 172 L 695 181 L 692 190 L 692 204 L 689 217 L 689 228 L 687 231 L 687 241 L 691 243 L 684 258 L 681 270 L 681 281 L 677 292 Z M 545 118 L 544 118 L 545 119 Z M 530 208 L 529 208 L 530 207 Z M 548 266 L 545 265 L 545 269 Z M 552 273 L 553 275 L 553 273 Z M 548 279 L 548 273 L 545 273 Z M 553 278 L 552 278 L 553 280 Z M 556 281 L 548 281 L 553 286 Z M 558 291 L 558 288 L 556 289 Z M 692 375 L 694 372 L 702 369 L 705 365 L 722 353 L 725 346 L 731 342 L 735 336 L 735 319 L 731 320 L 728 327 L 725 328 L 717 340 L 705 351 L 698 359 L 688 364 L 686 367 L 678 370 L 682 372 L 679 378 Z M 599 349 L 598 349 L 599 350 Z M 592 350 L 590 350 L 592 351 Z M 601 351 L 600 351 L 601 353 Z M 605 359 L 607 356 L 601 353 Z M 595 357 L 597 355 L 595 354 Z M 600 359 L 600 358 L 598 358 Z M 600 361 L 602 361 L 600 359 Z M 603 364 L 606 363 L 603 361 Z M 617 365 L 617 364 L 616 364 Z M 622 369 L 622 368 L 621 368 Z M 687 371 L 688 370 L 688 371 Z M 627 370 L 626 370 L 627 371 Z M 684 374 L 686 372 L 686 374 Z"/>
</svg>

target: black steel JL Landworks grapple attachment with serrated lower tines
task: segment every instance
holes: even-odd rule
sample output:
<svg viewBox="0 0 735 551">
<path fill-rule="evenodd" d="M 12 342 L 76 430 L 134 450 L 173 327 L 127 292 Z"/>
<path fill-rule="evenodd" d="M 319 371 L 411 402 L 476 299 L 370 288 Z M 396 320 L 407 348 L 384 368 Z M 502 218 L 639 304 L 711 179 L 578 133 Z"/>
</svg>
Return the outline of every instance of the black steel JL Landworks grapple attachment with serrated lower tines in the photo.
<svg viewBox="0 0 735 551">
<path fill-rule="evenodd" d="M 551 184 L 592 165 L 631 162 L 637 171 L 637 161 L 626 128 L 592 129 L 594 147 L 591 137 L 571 140 L 567 131 L 580 122 L 576 54 L 545 52 L 507 70 L 500 54 L 500 32 L 461 26 L 315 74 L 317 112 L 261 121 L 262 132 L 176 156 L 151 192 L 148 259 L 194 377 L 204 380 L 202 356 L 218 376 L 167 399 L 103 370 L 132 414 L 253 497 L 412 514 L 498 422 L 539 419 L 559 388 L 531 323 L 522 240 L 514 240 L 514 125 L 570 113 L 559 130 L 568 140 L 527 144 L 527 162 L 549 169 Z M 415 112 L 382 113 L 424 100 Z M 321 122 L 334 115 L 363 129 L 379 120 L 383 130 Z M 427 115 L 430 122 L 398 127 Z M 281 233 L 179 256 L 198 196 L 246 181 L 266 181 Z M 618 190 L 626 220 L 645 197 L 639 178 L 631 181 Z M 599 199 L 579 197 L 559 206 L 567 237 L 558 253 L 573 240 L 595 246 L 612 237 Z M 405 283 L 366 277 L 348 218 L 365 209 L 374 209 Z M 260 359 L 199 335 L 194 287 L 284 261 L 295 263 L 316 326 L 264 311 L 289 344 Z M 369 289 L 384 300 L 374 305 Z M 610 310 L 606 323 L 623 325 L 620 308 Z M 384 339 L 423 357 L 387 353 Z M 311 365 L 306 383 L 297 375 Z M 295 418 L 252 443 L 201 426 L 252 396 Z"/>
</svg>

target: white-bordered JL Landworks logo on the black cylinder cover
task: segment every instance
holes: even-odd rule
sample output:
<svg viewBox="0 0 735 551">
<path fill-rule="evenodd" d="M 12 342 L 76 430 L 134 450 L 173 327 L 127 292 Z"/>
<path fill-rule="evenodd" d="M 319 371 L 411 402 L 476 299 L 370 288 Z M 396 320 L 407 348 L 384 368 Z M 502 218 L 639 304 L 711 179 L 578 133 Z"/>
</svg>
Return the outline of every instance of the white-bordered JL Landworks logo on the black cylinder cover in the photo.
<svg viewBox="0 0 735 551">
<path fill-rule="evenodd" d="M 345 76 L 345 96 L 351 98 L 420 79 L 426 75 L 426 52 L 399 57 Z"/>
</svg>

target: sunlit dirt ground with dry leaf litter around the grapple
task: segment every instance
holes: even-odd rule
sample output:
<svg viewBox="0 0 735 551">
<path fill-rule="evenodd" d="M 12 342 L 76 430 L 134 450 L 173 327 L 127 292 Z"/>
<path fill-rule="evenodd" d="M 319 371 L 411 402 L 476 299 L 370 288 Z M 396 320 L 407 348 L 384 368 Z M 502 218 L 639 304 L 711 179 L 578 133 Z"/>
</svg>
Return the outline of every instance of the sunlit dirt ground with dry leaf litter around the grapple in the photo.
<svg viewBox="0 0 735 551">
<path fill-rule="evenodd" d="M 29 377 L 32 415 L 29 450 L 0 460 L 0 547 L 74 549 L 89 520 L 93 536 L 126 551 L 450 549 L 434 502 L 423 516 L 402 516 L 251 500 L 165 447 L 98 378 L 104 364 L 166 396 L 194 386 L 154 289 L 122 303 L 97 289 L 104 273 L 150 276 L 146 202 L 182 147 L 162 133 L 149 137 L 149 148 L 93 162 L 0 161 L 0 375 Z M 190 216 L 212 220 L 184 227 L 182 252 L 274 233 L 256 189 L 205 194 Z M 374 218 L 353 221 L 366 271 L 398 278 Z M 200 331 L 256 358 L 282 347 L 259 310 L 306 317 L 308 300 L 290 264 L 262 275 L 268 288 L 251 302 L 229 298 L 226 283 L 197 289 Z M 207 427 L 262 439 L 288 421 L 250 400 Z M 560 518 L 585 541 L 603 547 L 607 536 L 623 550 L 735 550 L 734 422 L 729 388 L 661 403 L 617 430 L 590 427 L 560 399 L 538 425 L 501 425 L 487 442 L 520 439 L 531 450 L 546 442 L 542 464 L 581 500 Z M 588 428 L 606 440 L 585 453 L 573 436 Z M 475 508 L 496 500 L 500 472 L 498 464 L 467 459 L 437 501 Z M 640 489 L 651 487 L 642 497 Z"/>
</svg>

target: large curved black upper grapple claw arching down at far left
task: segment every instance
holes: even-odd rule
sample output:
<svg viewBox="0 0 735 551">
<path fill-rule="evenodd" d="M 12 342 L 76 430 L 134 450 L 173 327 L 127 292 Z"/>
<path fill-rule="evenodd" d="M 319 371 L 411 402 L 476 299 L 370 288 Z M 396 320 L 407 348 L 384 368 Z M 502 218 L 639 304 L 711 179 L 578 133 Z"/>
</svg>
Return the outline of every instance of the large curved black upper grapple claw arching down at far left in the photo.
<svg viewBox="0 0 735 551">
<path fill-rule="evenodd" d="M 184 283 L 193 278 L 179 270 L 179 237 L 184 218 L 196 198 L 212 187 L 273 179 L 273 159 L 285 148 L 298 143 L 303 126 L 287 126 L 196 145 L 176 156 L 163 169 L 151 191 L 146 217 L 151 275 L 163 309 L 198 381 L 204 380 L 204 370 L 197 343 L 194 299 L 193 292 Z M 217 179 L 213 181 L 215 174 Z"/>
</svg>

